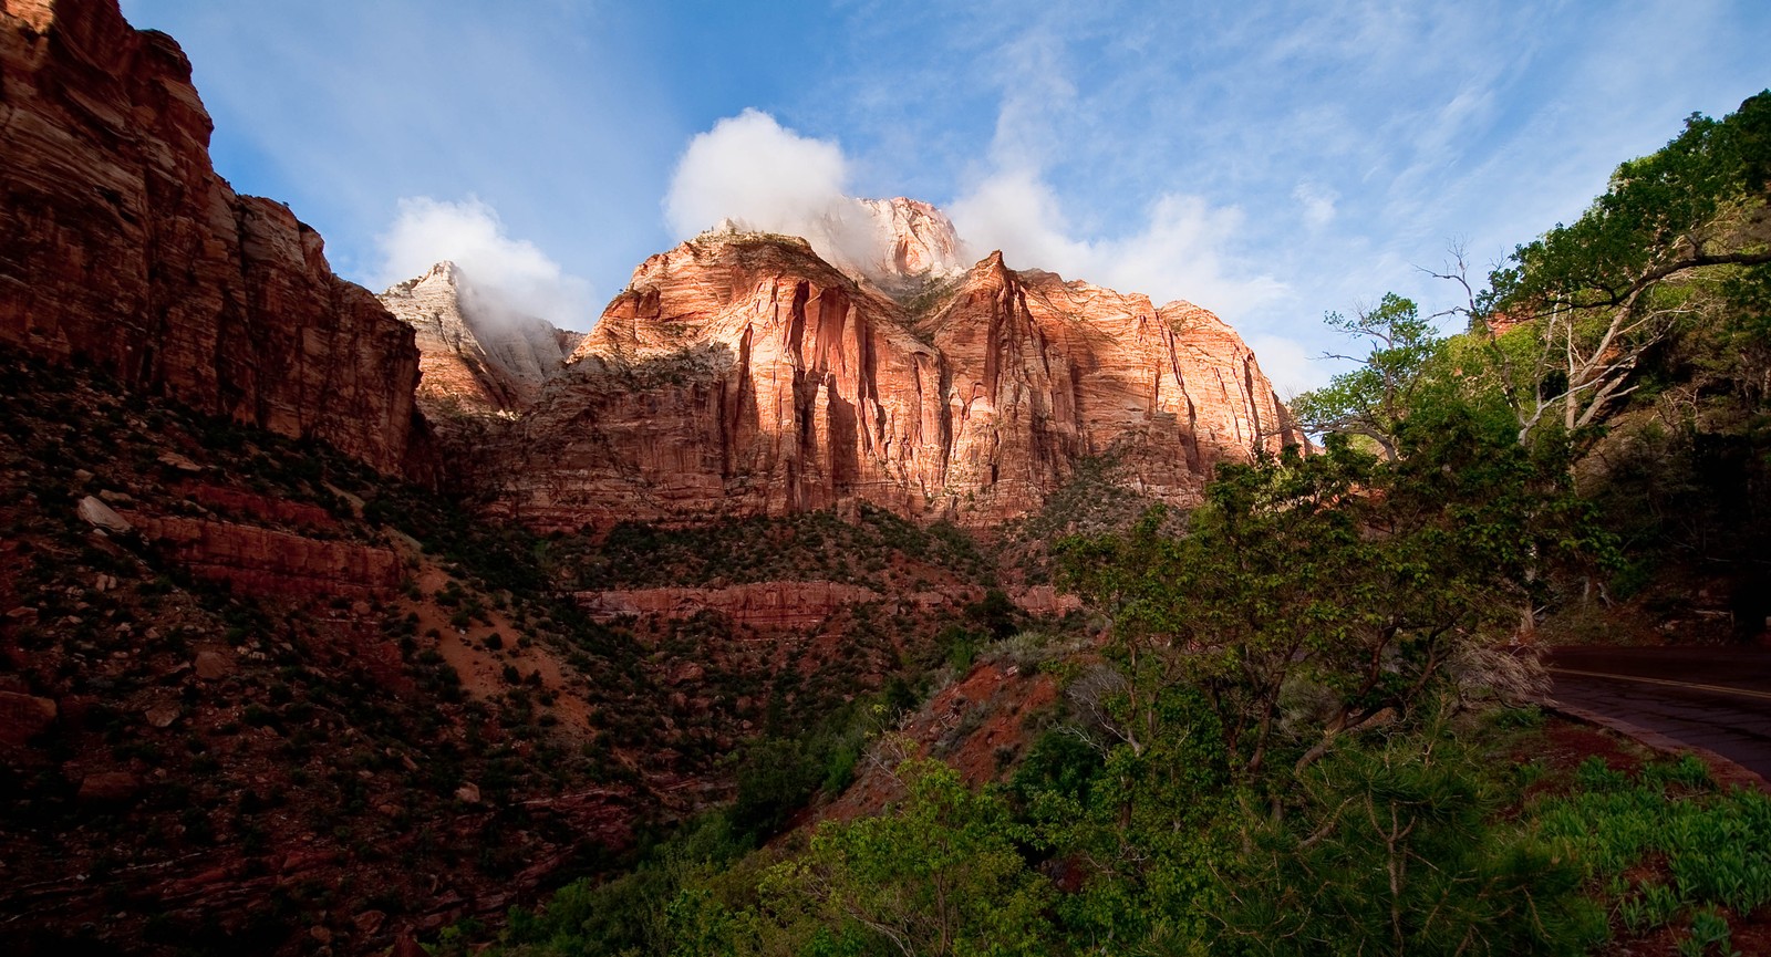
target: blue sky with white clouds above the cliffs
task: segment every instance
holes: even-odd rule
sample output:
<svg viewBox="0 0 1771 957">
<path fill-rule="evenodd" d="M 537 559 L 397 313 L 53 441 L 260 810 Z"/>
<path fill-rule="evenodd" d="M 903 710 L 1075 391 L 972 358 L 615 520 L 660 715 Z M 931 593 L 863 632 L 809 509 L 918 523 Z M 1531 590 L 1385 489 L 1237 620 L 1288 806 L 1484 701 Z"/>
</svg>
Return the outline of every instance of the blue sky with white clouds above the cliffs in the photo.
<svg viewBox="0 0 1771 957">
<path fill-rule="evenodd" d="M 1217 311 L 1282 396 L 1344 368 L 1323 313 L 1456 306 L 1454 246 L 1486 276 L 1771 87 L 1762 0 L 122 9 L 184 46 L 216 170 L 370 288 L 453 258 L 588 329 L 723 216 L 901 195 L 978 256 Z"/>
</svg>

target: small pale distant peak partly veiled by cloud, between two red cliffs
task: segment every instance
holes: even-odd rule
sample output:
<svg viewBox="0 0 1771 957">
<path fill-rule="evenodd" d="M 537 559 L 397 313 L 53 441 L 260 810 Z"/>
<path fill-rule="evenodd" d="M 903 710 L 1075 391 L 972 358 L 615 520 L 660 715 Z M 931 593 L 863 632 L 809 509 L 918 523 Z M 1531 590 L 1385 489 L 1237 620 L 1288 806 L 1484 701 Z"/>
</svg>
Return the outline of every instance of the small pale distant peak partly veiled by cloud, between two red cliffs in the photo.
<svg viewBox="0 0 1771 957">
<path fill-rule="evenodd" d="M 434 417 L 533 405 L 583 338 L 542 318 L 476 308 L 471 283 L 452 262 L 379 299 L 418 334 L 418 403 Z"/>
</svg>

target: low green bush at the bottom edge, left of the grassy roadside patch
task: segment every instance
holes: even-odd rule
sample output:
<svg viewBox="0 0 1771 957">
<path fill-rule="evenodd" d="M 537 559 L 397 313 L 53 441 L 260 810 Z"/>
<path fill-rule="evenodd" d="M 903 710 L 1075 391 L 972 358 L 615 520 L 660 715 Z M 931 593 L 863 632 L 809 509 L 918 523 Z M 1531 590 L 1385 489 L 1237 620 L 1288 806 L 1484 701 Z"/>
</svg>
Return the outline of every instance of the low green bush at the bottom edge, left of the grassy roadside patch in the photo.
<svg viewBox="0 0 1771 957">
<path fill-rule="evenodd" d="M 1585 953 L 1606 936 L 1582 869 L 1500 807 L 1443 729 L 1342 748 L 1298 778 L 1298 814 L 1254 824 L 1217 943 L 1263 955 Z"/>
</svg>

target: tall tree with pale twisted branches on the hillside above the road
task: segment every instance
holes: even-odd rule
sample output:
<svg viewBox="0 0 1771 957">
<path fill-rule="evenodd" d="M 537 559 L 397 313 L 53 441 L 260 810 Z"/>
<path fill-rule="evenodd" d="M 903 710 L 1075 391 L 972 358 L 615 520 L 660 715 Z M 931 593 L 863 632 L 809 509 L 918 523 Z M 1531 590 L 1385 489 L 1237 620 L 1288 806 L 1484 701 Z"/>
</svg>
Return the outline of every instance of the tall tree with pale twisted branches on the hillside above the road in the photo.
<svg viewBox="0 0 1771 957">
<path fill-rule="evenodd" d="M 1771 90 L 1617 168 L 1571 225 L 1514 249 L 1472 302 L 1489 318 L 1495 377 L 1527 440 L 1546 419 L 1596 425 L 1631 373 L 1713 299 L 1690 281 L 1771 264 Z"/>
</svg>

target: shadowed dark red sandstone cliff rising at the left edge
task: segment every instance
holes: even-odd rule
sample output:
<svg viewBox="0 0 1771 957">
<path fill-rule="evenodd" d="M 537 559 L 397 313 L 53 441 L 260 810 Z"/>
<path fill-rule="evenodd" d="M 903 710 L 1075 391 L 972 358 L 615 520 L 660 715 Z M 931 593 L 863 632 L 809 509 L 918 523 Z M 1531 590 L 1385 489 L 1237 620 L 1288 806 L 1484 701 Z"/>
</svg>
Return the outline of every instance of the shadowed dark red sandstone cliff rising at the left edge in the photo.
<svg viewBox="0 0 1771 957">
<path fill-rule="evenodd" d="M 0 64 L 0 343 L 400 469 L 411 329 L 214 173 L 179 46 L 115 0 L 7 0 Z"/>
</svg>

